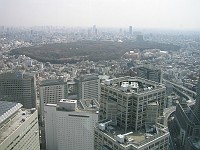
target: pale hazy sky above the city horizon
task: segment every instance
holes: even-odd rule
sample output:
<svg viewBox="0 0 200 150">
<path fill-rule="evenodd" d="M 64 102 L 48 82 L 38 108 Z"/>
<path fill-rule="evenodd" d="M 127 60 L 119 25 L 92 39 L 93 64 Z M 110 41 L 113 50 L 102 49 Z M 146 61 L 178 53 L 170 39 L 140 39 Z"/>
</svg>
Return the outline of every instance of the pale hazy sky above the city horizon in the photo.
<svg viewBox="0 0 200 150">
<path fill-rule="evenodd" d="M 0 0 L 0 25 L 200 29 L 200 0 Z"/>
</svg>

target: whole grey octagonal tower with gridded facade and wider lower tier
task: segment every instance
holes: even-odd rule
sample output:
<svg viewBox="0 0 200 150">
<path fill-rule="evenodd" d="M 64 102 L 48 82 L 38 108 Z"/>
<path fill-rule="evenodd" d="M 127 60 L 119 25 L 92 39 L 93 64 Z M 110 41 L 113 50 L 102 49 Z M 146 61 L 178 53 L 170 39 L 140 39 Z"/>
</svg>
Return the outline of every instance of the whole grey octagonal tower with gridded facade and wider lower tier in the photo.
<svg viewBox="0 0 200 150">
<path fill-rule="evenodd" d="M 101 84 L 100 120 L 95 150 L 167 149 L 169 132 L 159 124 L 165 86 L 139 77 L 121 77 Z"/>
</svg>

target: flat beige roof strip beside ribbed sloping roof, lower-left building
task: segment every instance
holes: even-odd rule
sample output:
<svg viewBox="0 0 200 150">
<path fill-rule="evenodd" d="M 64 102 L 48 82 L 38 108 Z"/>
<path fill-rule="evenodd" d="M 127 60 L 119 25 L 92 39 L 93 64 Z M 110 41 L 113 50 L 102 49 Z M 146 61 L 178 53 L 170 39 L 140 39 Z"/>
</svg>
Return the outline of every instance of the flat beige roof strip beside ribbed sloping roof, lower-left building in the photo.
<svg viewBox="0 0 200 150">
<path fill-rule="evenodd" d="M 18 109 L 10 120 L 0 126 L 0 144 L 29 118 L 35 109 Z"/>
</svg>

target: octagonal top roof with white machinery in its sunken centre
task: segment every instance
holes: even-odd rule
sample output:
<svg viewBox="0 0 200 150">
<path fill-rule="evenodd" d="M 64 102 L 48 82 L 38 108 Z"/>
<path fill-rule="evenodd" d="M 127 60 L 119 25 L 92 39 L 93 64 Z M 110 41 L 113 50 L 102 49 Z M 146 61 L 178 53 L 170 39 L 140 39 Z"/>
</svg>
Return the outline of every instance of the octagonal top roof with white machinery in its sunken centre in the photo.
<svg viewBox="0 0 200 150">
<path fill-rule="evenodd" d="M 140 77 L 121 77 L 116 79 L 109 79 L 102 83 L 102 85 L 125 92 L 127 94 L 141 94 L 165 88 L 163 84 Z"/>
</svg>

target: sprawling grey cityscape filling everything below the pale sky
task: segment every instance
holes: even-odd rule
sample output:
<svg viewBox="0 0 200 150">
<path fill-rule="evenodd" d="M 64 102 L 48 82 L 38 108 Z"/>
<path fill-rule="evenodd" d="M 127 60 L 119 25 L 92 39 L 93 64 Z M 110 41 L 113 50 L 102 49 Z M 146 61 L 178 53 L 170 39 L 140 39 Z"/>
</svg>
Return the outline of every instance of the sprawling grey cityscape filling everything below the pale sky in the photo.
<svg viewBox="0 0 200 150">
<path fill-rule="evenodd" d="M 200 32 L 115 29 L 0 26 L 0 149 L 200 150 Z"/>
</svg>

